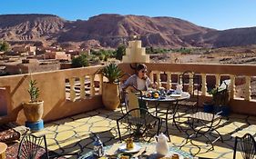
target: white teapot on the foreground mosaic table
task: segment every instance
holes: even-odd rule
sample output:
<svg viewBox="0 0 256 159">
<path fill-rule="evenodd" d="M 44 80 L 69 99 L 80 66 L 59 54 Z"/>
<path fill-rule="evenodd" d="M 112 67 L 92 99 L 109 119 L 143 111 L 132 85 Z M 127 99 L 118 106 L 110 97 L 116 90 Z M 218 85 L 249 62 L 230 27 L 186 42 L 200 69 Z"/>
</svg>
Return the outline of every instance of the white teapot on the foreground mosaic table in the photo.
<svg viewBox="0 0 256 159">
<path fill-rule="evenodd" d="M 159 136 L 156 136 L 158 143 L 156 144 L 156 152 L 160 155 L 166 155 L 169 152 L 168 137 L 161 133 Z"/>
</svg>

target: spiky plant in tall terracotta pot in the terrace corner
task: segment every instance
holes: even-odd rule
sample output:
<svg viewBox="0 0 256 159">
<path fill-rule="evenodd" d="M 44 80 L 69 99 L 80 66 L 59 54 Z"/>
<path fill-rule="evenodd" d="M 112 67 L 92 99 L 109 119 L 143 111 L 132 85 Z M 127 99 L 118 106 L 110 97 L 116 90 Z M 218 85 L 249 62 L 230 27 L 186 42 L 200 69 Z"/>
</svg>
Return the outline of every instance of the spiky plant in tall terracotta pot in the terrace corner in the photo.
<svg viewBox="0 0 256 159">
<path fill-rule="evenodd" d="M 111 63 L 104 67 L 101 73 L 108 78 L 108 82 L 102 84 L 102 102 L 107 109 L 115 110 L 120 104 L 118 79 L 122 72 L 118 65 Z"/>
</svg>

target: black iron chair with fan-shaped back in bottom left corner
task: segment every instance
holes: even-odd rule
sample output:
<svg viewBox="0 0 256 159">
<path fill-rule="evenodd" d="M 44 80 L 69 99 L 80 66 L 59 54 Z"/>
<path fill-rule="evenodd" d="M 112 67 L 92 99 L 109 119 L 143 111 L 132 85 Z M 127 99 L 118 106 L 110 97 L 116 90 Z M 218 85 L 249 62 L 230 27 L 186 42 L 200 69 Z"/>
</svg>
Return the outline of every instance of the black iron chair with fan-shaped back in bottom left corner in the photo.
<svg viewBox="0 0 256 159">
<path fill-rule="evenodd" d="M 45 149 L 45 154 L 41 155 L 38 153 L 40 152 L 39 150 L 42 148 L 41 145 L 44 145 Z M 41 136 L 36 136 L 34 134 L 26 134 L 22 139 L 19 144 L 18 148 L 18 154 L 17 154 L 17 159 L 37 159 L 37 158 L 56 158 L 59 156 L 64 156 L 64 155 L 77 155 L 77 153 L 72 153 L 72 154 L 55 154 L 55 155 L 49 155 L 48 149 L 47 149 L 47 144 L 46 144 L 46 135 L 43 134 Z"/>
</svg>

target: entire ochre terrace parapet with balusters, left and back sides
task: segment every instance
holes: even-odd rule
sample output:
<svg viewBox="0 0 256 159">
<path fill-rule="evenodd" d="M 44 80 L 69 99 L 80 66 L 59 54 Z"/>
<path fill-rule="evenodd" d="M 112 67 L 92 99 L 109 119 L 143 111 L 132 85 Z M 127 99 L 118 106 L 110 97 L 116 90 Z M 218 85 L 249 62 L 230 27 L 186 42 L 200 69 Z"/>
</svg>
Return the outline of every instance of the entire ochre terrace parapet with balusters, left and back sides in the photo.
<svg viewBox="0 0 256 159">
<path fill-rule="evenodd" d="M 136 64 L 119 64 L 123 72 L 135 74 Z M 152 64 L 148 65 L 148 76 L 158 83 L 158 87 L 175 88 L 175 76 L 185 71 L 193 71 L 200 75 L 200 105 L 211 99 L 207 87 L 212 83 L 219 85 L 220 81 L 230 78 L 230 108 L 240 114 L 256 115 L 256 101 L 251 99 L 251 81 L 256 76 L 255 65 L 197 65 L 197 64 Z M 36 79 L 40 89 L 39 99 L 44 100 L 43 119 L 56 120 L 73 114 L 80 114 L 103 107 L 101 100 L 102 84 L 106 79 L 97 71 L 102 65 L 89 66 L 76 69 L 58 70 L 52 72 L 10 75 L 0 77 L 0 87 L 5 88 L 5 103 L 7 115 L 0 117 L 0 124 L 17 122 L 24 124 L 26 121 L 22 103 L 29 100 L 27 93 L 28 83 Z M 213 76 L 213 80 L 209 77 Z M 165 77 L 165 78 L 163 78 Z M 126 80 L 128 76 L 125 76 Z M 242 80 L 241 80 L 242 78 Z M 211 82 L 210 82 L 211 81 Z M 244 86 L 244 98 L 236 96 L 236 86 L 241 81 Z M 3 104 L 1 105 L 3 106 Z"/>
</svg>

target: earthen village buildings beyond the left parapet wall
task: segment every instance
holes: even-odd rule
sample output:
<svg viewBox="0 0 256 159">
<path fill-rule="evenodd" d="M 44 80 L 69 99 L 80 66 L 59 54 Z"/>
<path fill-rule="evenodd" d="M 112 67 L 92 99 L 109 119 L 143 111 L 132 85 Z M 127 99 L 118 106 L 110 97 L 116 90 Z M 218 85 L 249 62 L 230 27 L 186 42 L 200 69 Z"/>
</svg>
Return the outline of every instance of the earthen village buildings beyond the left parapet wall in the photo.
<svg viewBox="0 0 256 159">
<path fill-rule="evenodd" d="M 20 75 L 71 68 L 71 60 L 81 54 L 90 55 L 90 49 L 72 50 L 57 45 L 47 47 L 12 45 L 8 51 L 0 52 L 0 75 Z M 91 64 L 93 65 L 93 62 Z"/>
</svg>

